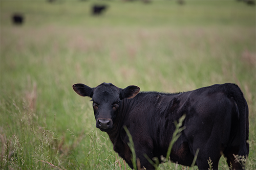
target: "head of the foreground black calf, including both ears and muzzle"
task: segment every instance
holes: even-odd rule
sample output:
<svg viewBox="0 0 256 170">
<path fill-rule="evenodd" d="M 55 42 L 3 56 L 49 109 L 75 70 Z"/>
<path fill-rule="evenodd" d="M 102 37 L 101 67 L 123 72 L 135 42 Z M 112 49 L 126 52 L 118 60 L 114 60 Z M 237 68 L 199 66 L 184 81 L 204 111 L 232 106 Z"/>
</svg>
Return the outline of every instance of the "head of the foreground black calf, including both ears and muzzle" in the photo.
<svg viewBox="0 0 256 170">
<path fill-rule="evenodd" d="M 94 88 L 79 83 L 74 84 L 73 89 L 81 96 L 92 98 L 96 127 L 101 131 L 112 129 L 122 100 L 134 98 L 140 91 L 137 86 L 128 86 L 122 89 L 111 83 L 102 83 Z"/>
</svg>

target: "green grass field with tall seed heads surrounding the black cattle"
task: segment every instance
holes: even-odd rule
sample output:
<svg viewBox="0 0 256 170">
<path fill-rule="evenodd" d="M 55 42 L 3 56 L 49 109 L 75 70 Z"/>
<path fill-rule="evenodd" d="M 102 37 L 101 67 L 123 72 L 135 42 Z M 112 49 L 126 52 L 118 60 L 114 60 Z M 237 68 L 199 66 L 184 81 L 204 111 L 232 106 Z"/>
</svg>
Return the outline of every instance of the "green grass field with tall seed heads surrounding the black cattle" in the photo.
<svg viewBox="0 0 256 170">
<path fill-rule="evenodd" d="M 129 169 L 75 83 L 178 92 L 231 82 L 249 105 L 247 169 L 256 169 L 256 7 L 185 2 L 1 1 L 0 168 Z M 94 3 L 109 8 L 92 16 Z M 11 23 L 14 12 L 24 25 Z"/>
</svg>

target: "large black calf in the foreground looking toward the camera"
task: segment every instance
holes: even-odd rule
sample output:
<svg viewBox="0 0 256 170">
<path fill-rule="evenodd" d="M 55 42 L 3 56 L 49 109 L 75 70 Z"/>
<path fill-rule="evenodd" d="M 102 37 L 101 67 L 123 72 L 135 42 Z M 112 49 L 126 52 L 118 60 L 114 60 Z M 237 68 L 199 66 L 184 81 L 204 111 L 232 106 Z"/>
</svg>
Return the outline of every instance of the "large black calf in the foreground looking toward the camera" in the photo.
<svg viewBox="0 0 256 170">
<path fill-rule="evenodd" d="M 186 115 L 185 130 L 175 142 L 170 160 L 190 166 L 196 151 L 196 165 L 218 169 L 221 155 L 233 169 L 243 169 L 234 155 L 248 156 L 248 106 L 240 88 L 235 84 L 216 84 L 181 93 L 139 92 L 137 86 L 124 89 L 102 83 L 95 88 L 74 84 L 73 89 L 93 101 L 96 127 L 108 133 L 114 151 L 131 168 L 132 156 L 124 126 L 130 131 L 137 161 L 141 167 L 154 169 L 150 159 L 166 157 L 175 122 Z M 139 163 L 138 163 L 139 164 Z"/>
</svg>

